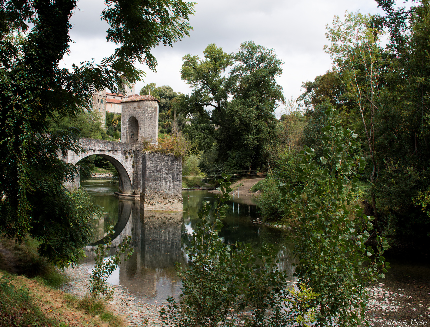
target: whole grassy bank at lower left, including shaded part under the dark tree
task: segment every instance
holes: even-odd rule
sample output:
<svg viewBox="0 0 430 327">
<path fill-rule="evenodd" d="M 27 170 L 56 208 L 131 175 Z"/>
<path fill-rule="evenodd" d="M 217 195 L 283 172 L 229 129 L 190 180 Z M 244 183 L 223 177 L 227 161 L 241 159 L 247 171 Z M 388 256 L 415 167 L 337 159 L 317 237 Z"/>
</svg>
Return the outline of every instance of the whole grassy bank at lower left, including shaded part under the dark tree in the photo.
<svg viewBox="0 0 430 327">
<path fill-rule="evenodd" d="M 67 281 L 46 258 L 39 243 L 0 239 L 0 327 L 122 327 L 103 299 L 82 299 L 58 290 Z"/>
</svg>

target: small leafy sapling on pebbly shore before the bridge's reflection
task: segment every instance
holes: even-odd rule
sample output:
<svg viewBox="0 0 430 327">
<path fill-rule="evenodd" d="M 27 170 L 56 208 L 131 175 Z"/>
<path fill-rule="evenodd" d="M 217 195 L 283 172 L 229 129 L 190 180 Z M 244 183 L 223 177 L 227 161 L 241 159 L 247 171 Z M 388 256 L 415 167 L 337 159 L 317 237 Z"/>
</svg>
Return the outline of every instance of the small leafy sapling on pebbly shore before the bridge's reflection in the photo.
<svg viewBox="0 0 430 327">
<path fill-rule="evenodd" d="M 112 245 L 111 237 L 115 232 L 113 228 L 114 226 L 107 227 L 107 235 L 103 238 L 104 243 L 98 244 L 95 249 L 95 266 L 92 269 L 88 287 L 91 297 L 95 299 L 98 299 L 100 295 L 107 298 L 112 296 L 114 288 L 109 287 L 106 280 L 121 263 L 121 255 L 124 255 L 123 259 L 127 261 L 134 251 L 131 248 L 131 236 L 128 236 L 118 245 L 115 255 L 105 259 L 106 251 L 109 251 Z"/>
</svg>

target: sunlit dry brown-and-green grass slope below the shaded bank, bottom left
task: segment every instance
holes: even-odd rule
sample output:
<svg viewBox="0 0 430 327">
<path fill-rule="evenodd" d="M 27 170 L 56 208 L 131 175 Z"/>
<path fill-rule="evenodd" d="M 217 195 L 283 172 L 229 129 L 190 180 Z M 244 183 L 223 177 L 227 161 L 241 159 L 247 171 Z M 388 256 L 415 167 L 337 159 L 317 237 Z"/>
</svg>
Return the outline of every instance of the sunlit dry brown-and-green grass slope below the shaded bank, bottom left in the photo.
<svg viewBox="0 0 430 327">
<path fill-rule="evenodd" d="M 104 300 L 78 299 L 46 286 L 38 278 L 0 271 L 1 327 L 123 327 L 123 318 L 113 315 Z"/>
</svg>

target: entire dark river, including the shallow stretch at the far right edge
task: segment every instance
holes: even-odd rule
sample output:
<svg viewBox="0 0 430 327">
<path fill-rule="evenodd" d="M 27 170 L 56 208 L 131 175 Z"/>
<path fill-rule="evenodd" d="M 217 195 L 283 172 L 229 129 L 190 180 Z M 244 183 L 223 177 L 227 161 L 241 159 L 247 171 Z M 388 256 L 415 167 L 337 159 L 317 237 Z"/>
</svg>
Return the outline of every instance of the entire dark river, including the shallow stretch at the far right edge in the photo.
<svg viewBox="0 0 430 327">
<path fill-rule="evenodd" d="M 185 245 L 197 223 L 197 212 L 202 201 L 213 203 L 215 195 L 207 191 L 183 191 L 183 212 L 139 211 L 139 203 L 119 200 L 114 196 L 117 186 L 108 181 L 91 179 L 81 181 L 81 186 L 94 197 L 94 202 L 103 208 L 104 220 L 95 229 L 94 241 L 103 237 L 108 225 L 114 225 L 117 233 L 132 236 L 134 253 L 130 260 L 122 263 L 108 281 L 126 288 L 136 301 L 162 303 L 168 296 L 178 297 L 181 283 L 175 271 L 175 262 L 186 264 Z M 288 232 L 252 223 L 259 218 L 255 199 L 239 197 L 228 202 L 228 210 L 220 237 L 228 243 L 241 241 L 259 248 L 264 243 L 275 245 L 280 267 L 292 276 L 292 247 L 287 240 Z M 122 236 L 121 236 L 122 237 Z M 121 238 L 120 237 L 120 238 Z M 92 251 L 87 251 L 83 265 L 91 271 L 94 262 Z M 385 279 L 381 279 L 385 290 L 405 295 L 396 298 L 400 309 L 396 312 L 372 311 L 378 326 L 386 325 L 389 319 L 427 319 L 430 325 L 430 265 L 428 257 L 416 258 L 394 256 L 387 253 L 391 269 Z M 411 260 L 412 259 L 412 260 Z M 373 324 L 372 324 L 373 325 Z"/>
</svg>

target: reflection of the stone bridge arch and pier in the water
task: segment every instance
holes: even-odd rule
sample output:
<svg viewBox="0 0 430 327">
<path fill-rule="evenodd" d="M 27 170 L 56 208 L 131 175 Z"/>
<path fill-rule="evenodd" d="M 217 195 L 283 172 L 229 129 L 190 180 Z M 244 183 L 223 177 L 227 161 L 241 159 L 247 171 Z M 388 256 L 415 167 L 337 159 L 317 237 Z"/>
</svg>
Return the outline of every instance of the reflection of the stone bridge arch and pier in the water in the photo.
<svg viewBox="0 0 430 327">
<path fill-rule="evenodd" d="M 126 286 L 134 296 L 154 298 L 158 292 L 173 295 L 180 284 L 170 282 L 176 279 L 175 262 L 184 261 L 181 252 L 182 211 L 145 211 L 138 201 L 119 200 L 118 221 L 114 226 L 112 246 L 107 255 L 115 253 L 124 238 L 132 237 L 134 253 L 126 263 L 117 269 L 117 282 Z M 94 250 L 103 240 L 88 245 L 86 263 L 93 263 Z M 166 278 L 169 277 L 169 284 Z M 161 280 L 161 281 L 160 281 Z M 157 282 L 160 287 L 157 287 Z"/>
</svg>

